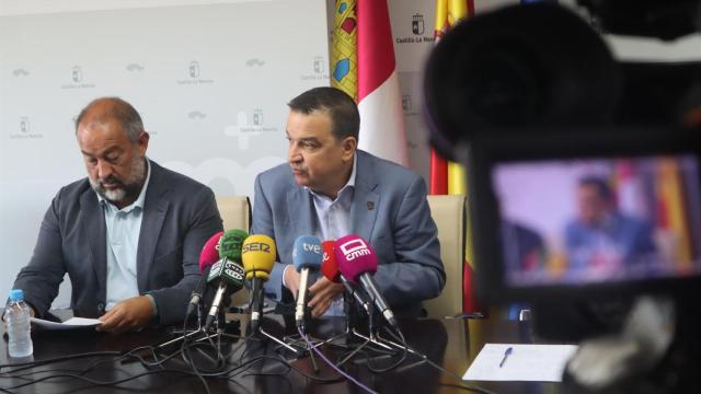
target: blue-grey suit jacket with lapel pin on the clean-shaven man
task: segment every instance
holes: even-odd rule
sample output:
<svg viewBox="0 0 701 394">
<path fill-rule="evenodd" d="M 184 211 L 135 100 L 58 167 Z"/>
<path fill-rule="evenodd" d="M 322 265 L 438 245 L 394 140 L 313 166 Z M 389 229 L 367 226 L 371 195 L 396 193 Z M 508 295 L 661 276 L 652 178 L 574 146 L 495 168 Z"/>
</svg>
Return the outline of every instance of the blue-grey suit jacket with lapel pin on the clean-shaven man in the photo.
<svg viewBox="0 0 701 394">
<path fill-rule="evenodd" d="M 380 291 L 401 315 L 420 315 L 421 301 L 438 297 L 446 282 L 438 230 L 430 217 L 426 185 L 417 174 L 395 163 L 357 151 L 352 231 L 368 240 L 380 266 Z M 255 179 L 252 234 L 275 239 L 278 260 L 266 290 L 279 300 L 283 270 L 292 263 L 299 235 L 315 233 L 311 195 L 297 185 L 288 164 Z"/>
</svg>

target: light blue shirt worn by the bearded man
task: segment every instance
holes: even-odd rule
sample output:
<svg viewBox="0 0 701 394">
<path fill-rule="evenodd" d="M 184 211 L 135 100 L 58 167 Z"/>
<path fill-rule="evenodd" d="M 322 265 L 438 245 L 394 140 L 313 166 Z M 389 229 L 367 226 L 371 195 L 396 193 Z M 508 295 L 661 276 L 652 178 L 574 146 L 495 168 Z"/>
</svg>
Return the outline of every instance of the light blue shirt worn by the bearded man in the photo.
<svg viewBox="0 0 701 394">
<path fill-rule="evenodd" d="M 129 206 L 118 209 L 100 195 L 97 198 L 105 213 L 107 245 L 107 297 L 105 310 L 131 297 L 139 296 L 136 254 L 139 247 L 143 201 L 151 178 L 151 163 L 146 160 L 146 182 L 139 197 Z M 153 301 L 153 300 L 151 300 Z M 156 308 L 156 304 L 153 305 Z"/>
</svg>

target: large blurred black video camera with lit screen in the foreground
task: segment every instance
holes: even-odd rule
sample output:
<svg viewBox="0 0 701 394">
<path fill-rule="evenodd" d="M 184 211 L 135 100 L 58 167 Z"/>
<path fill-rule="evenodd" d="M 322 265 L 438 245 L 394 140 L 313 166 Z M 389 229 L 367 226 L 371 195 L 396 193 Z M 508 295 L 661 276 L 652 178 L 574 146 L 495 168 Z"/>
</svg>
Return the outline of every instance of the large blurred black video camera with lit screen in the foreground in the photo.
<svg viewBox="0 0 701 394">
<path fill-rule="evenodd" d="M 701 327 L 689 302 L 701 292 L 701 62 L 618 60 L 601 31 L 678 38 L 699 31 L 701 2 L 579 3 L 588 19 L 535 2 L 441 37 L 424 80 L 429 140 L 467 169 L 482 301 L 529 302 L 538 334 L 582 340 L 625 334 L 641 294 L 663 294 L 677 347 L 650 359 L 686 346 L 689 361 L 701 354 L 686 334 Z"/>
</svg>

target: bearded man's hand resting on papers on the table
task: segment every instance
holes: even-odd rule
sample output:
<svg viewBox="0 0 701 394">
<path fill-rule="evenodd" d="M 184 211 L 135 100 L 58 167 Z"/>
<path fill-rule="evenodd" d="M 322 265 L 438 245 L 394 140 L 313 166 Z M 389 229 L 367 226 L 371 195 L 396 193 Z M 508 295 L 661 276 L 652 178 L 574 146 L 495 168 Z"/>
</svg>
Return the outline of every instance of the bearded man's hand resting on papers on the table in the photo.
<svg viewBox="0 0 701 394">
<path fill-rule="evenodd" d="M 147 325 L 153 318 L 153 304 L 147 296 L 133 297 L 117 302 L 100 317 L 99 331 L 122 334 Z"/>
</svg>

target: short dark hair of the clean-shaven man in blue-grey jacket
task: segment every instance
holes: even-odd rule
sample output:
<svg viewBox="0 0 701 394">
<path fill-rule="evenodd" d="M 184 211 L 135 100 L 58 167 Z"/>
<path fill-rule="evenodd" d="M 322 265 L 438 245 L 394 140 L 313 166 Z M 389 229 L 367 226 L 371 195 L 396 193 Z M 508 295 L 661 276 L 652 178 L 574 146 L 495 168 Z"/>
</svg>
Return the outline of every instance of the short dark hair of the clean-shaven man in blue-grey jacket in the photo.
<svg viewBox="0 0 701 394">
<path fill-rule="evenodd" d="M 287 106 L 294 112 L 309 115 L 314 111 L 327 111 L 337 140 L 354 137 L 358 140 L 360 114 L 353 99 L 336 88 L 313 88 L 292 99 Z"/>
</svg>

